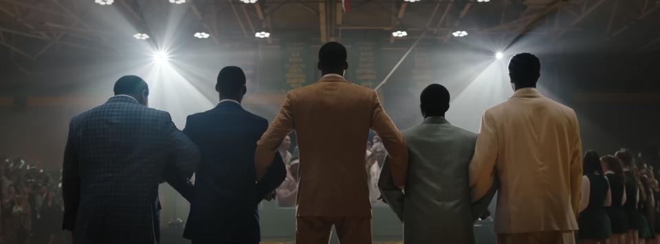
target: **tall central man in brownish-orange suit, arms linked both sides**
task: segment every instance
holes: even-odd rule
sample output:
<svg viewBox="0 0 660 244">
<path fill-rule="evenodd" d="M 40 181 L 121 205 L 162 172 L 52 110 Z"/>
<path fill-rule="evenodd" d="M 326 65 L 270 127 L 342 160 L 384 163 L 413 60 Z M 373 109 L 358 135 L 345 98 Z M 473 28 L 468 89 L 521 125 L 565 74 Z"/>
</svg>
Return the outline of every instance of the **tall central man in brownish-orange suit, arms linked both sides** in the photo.
<svg viewBox="0 0 660 244">
<path fill-rule="evenodd" d="M 406 183 L 408 151 L 373 89 L 344 79 L 347 51 L 326 43 L 318 54 L 323 78 L 290 91 L 280 113 L 257 143 L 257 180 L 283 138 L 298 136 L 300 155 L 296 243 L 328 243 L 335 226 L 342 244 L 371 244 L 371 202 L 366 173 L 369 129 L 390 153 L 395 186 Z"/>
</svg>

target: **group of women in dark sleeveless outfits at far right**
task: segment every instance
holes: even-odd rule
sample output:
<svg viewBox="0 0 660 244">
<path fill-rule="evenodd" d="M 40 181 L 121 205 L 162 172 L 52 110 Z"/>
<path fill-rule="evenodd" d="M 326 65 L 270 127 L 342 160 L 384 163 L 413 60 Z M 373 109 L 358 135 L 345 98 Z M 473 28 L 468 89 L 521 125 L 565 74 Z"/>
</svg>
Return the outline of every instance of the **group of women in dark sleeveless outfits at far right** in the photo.
<svg viewBox="0 0 660 244">
<path fill-rule="evenodd" d="M 659 169 L 621 148 L 584 155 L 577 239 L 583 243 L 660 243 Z"/>
</svg>

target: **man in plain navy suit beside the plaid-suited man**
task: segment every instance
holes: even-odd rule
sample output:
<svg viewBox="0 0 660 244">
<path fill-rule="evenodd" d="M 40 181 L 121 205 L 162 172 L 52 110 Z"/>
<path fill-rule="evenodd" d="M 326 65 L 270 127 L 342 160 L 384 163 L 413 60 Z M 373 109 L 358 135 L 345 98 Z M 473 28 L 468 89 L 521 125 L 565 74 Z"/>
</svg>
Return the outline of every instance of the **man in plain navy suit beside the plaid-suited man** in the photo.
<svg viewBox="0 0 660 244">
<path fill-rule="evenodd" d="M 217 107 L 188 116 L 184 129 L 201 151 L 195 186 L 187 197 L 190 215 L 184 237 L 192 244 L 257 244 L 261 241 L 257 205 L 265 197 L 270 200 L 267 195 L 282 183 L 286 169 L 276 157 L 265 179 L 256 183 L 254 151 L 268 121 L 241 107 L 247 91 L 243 70 L 223 68 L 215 89 L 220 94 Z"/>
</svg>

